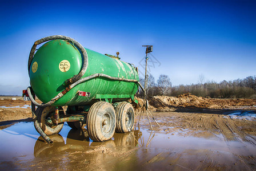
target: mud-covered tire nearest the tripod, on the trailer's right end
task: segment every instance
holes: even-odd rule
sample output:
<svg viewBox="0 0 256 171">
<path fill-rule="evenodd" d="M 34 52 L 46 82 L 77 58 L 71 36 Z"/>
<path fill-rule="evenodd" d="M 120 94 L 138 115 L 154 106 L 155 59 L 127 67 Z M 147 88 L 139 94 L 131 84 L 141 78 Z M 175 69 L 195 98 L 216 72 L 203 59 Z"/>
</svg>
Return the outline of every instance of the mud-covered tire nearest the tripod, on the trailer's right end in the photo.
<svg viewBox="0 0 256 171">
<path fill-rule="evenodd" d="M 115 109 L 115 115 L 117 115 L 117 127 L 115 132 L 126 133 L 131 132 L 134 129 L 134 108 L 133 105 L 127 102 L 118 104 Z"/>
</svg>

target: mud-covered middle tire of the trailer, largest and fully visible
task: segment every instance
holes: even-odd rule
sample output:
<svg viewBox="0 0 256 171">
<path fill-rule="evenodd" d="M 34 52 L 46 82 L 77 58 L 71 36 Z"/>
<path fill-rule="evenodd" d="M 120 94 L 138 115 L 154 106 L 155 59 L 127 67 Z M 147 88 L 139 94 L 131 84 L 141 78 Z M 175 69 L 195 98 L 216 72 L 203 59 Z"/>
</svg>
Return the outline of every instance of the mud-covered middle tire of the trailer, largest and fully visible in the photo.
<svg viewBox="0 0 256 171">
<path fill-rule="evenodd" d="M 105 101 L 94 103 L 87 116 L 87 131 L 93 141 L 106 141 L 115 132 L 115 109 Z"/>
</svg>

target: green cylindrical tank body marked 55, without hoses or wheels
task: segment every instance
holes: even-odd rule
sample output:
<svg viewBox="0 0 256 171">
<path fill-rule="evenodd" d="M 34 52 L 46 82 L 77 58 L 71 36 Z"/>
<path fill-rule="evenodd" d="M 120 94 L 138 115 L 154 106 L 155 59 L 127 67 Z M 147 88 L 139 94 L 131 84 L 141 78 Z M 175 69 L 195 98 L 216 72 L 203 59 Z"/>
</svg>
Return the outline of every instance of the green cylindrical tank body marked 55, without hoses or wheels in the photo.
<svg viewBox="0 0 256 171">
<path fill-rule="evenodd" d="M 88 67 L 82 78 L 101 73 L 116 78 L 139 80 L 137 71 L 129 63 L 85 49 Z M 43 44 L 35 53 L 29 70 L 30 84 L 35 95 L 43 103 L 47 103 L 66 88 L 63 83 L 77 75 L 82 64 L 81 53 L 70 42 L 58 39 Z M 98 77 L 78 84 L 52 105 L 90 104 L 93 99 L 111 97 L 127 99 L 133 97 L 137 90 L 138 84 L 134 82 Z M 79 91 L 88 92 L 90 96 L 79 96 Z"/>
</svg>

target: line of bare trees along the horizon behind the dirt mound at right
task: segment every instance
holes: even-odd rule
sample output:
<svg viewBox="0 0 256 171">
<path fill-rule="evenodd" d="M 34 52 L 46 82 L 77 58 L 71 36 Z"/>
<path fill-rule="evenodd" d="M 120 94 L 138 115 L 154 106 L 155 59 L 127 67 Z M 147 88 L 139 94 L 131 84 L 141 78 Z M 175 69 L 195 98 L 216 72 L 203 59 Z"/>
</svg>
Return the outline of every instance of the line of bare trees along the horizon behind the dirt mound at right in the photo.
<svg viewBox="0 0 256 171">
<path fill-rule="evenodd" d="M 145 78 L 139 78 L 144 87 Z M 167 75 L 160 75 L 157 82 L 151 74 L 147 74 L 147 96 L 178 96 L 183 93 L 191 93 L 195 96 L 211 98 L 250 98 L 256 99 L 256 76 L 247 76 L 245 79 L 233 81 L 223 80 L 220 83 L 211 81 L 204 83 L 204 76 L 199 75 L 197 84 L 172 86 Z M 139 89 L 138 96 L 143 96 Z"/>
</svg>

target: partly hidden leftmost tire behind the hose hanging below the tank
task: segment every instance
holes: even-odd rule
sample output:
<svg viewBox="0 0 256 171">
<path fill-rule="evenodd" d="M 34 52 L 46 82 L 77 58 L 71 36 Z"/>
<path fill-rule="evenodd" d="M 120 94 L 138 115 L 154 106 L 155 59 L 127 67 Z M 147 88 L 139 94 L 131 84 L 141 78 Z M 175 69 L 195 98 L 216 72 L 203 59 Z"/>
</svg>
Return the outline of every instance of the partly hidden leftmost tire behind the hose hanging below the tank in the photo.
<svg viewBox="0 0 256 171">
<path fill-rule="evenodd" d="M 58 124 L 54 127 L 50 127 L 46 123 L 45 119 L 47 119 L 47 117 L 49 117 L 49 115 L 51 115 L 51 114 L 54 115 L 54 112 L 55 112 L 55 107 L 53 107 L 53 106 L 49 106 L 49 107 L 45 107 L 45 108 L 38 107 L 37 110 L 35 111 L 35 115 L 37 115 L 37 117 L 38 117 L 38 123 L 39 123 L 40 128 L 42 128 L 43 132 L 45 132 L 45 134 L 48 136 L 59 133 L 61 131 L 61 129 L 63 128 L 63 123 Z"/>
</svg>

